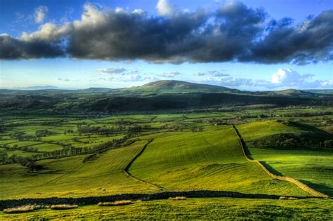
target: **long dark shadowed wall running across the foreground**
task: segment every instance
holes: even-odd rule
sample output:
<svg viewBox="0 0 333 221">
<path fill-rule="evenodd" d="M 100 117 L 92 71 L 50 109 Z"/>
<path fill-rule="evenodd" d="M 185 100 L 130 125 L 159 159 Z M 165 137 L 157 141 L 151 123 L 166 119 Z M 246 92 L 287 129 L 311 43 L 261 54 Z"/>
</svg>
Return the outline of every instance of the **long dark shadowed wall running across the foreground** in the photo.
<svg viewBox="0 0 333 221">
<path fill-rule="evenodd" d="M 155 194 L 117 194 L 110 196 L 87 196 L 80 198 L 36 198 L 36 199 L 7 199 L 0 201 L 0 209 L 25 206 L 28 204 L 51 205 L 51 204 L 77 204 L 91 205 L 99 202 L 110 202 L 119 200 L 156 200 L 168 199 L 169 197 L 186 196 L 188 198 L 211 198 L 211 197 L 230 197 L 245 199 L 280 199 L 281 196 L 269 194 L 243 194 L 240 192 L 214 191 L 214 190 L 194 190 L 188 192 L 159 192 Z M 315 196 L 286 196 L 295 199 L 318 198 Z"/>
</svg>

